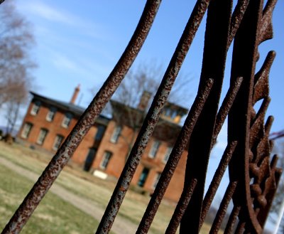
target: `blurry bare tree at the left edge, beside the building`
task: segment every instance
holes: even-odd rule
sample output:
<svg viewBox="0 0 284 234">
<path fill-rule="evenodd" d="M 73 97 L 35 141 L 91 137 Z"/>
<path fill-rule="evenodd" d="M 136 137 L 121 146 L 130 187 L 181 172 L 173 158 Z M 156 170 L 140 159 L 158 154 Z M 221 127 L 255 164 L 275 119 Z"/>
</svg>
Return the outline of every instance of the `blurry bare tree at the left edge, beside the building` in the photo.
<svg viewBox="0 0 284 234">
<path fill-rule="evenodd" d="M 9 131 L 13 131 L 19 108 L 31 87 L 30 50 L 34 44 L 31 26 L 16 12 L 13 1 L 0 7 L 0 108 L 6 111 Z"/>
</svg>

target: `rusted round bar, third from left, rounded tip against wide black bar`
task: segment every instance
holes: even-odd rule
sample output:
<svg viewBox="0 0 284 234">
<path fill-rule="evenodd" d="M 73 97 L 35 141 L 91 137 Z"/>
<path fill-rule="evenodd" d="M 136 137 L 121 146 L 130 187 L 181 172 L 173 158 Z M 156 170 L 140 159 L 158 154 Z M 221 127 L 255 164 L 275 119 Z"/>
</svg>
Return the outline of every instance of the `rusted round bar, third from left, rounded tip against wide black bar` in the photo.
<svg viewBox="0 0 284 234">
<path fill-rule="evenodd" d="M 163 199 L 165 190 L 168 188 L 170 179 L 172 179 L 175 168 L 178 166 L 182 152 L 188 144 L 192 130 L 195 127 L 195 123 L 197 122 L 200 112 L 202 111 L 202 107 L 207 100 L 212 85 L 213 80 L 209 79 L 204 90 L 195 98 L 195 102 L 193 102 L 192 108 L 190 108 L 190 112 L 187 115 L 187 119 L 185 119 L 185 124 L 180 130 L 178 139 L 170 153 L 168 162 L 163 169 L 163 173 L 160 176 L 160 180 L 158 181 L 155 191 L 151 196 L 151 200 L 148 203 L 136 233 L 148 233 L 151 223 L 153 222 L 153 218 L 155 217 L 155 213 L 158 211 L 158 207 Z M 185 196 L 182 197 L 185 198 Z"/>
</svg>

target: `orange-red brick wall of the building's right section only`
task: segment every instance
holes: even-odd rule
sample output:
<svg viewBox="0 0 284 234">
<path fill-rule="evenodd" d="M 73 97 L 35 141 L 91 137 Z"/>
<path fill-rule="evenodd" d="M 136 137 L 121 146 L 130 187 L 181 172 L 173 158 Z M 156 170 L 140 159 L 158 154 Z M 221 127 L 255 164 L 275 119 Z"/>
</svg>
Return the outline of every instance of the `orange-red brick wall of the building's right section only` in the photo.
<svg viewBox="0 0 284 234">
<path fill-rule="evenodd" d="M 119 178 L 122 169 L 125 164 L 125 157 L 127 154 L 128 145 L 126 144 L 125 138 L 130 139 L 133 131 L 129 127 L 123 127 L 121 130 L 121 137 L 119 137 L 116 143 L 111 143 L 110 139 L 116 127 L 116 122 L 111 120 L 107 127 L 107 130 L 104 134 L 102 142 L 100 144 L 99 150 L 97 151 L 96 158 L 92 164 L 93 169 L 99 169 L 99 171 L 104 171 L 106 174 L 115 176 Z M 143 189 L 153 192 L 153 184 L 158 173 L 163 171 L 165 166 L 164 156 L 167 151 L 167 147 L 172 147 L 167 144 L 167 142 L 161 142 L 160 147 L 158 148 L 157 154 L 154 159 L 151 159 L 148 156 L 148 153 L 152 147 L 154 139 L 152 138 L 146 147 L 146 150 L 141 158 L 141 163 L 138 165 L 136 173 L 133 176 L 131 184 L 136 185 L 138 183 L 141 172 L 144 167 L 150 169 L 146 182 L 143 186 Z M 102 162 L 104 152 L 110 151 L 112 153 L 111 159 L 106 169 L 101 169 L 100 164 Z M 184 176 L 185 176 L 185 164 L 187 158 L 187 151 L 182 154 L 180 163 L 178 164 L 175 174 L 173 175 L 172 180 L 168 186 L 168 189 L 165 193 L 165 198 L 168 198 L 172 201 L 178 201 L 180 194 L 182 193 Z"/>
</svg>

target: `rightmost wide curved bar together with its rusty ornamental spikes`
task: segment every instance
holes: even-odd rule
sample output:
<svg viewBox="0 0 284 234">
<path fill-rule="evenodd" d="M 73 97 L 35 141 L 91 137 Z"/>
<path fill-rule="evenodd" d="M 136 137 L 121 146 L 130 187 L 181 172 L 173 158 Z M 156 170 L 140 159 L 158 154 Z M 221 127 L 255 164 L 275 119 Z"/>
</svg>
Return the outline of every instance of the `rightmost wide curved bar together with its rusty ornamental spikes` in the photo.
<svg viewBox="0 0 284 234">
<path fill-rule="evenodd" d="M 239 139 L 229 166 L 230 180 L 239 181 L 234 196 L 234 203 L 241 206 L 236 233 L 244 230 L 262 233 L 263 216 L 267 216 L 277 184 L 276 157 L 269 163 L 272 146 L 268 135 L 273 118 L 269 117 L 264 124 L 270 102 L 268 75 L 275 58 L 273 51 L 268 53 L 261 69 L 254 75 L 259 57 L 258 45 L 272 37 L 274 6 L 275 1 L 268 1 L 263 10 L 263 1 L 250 1 L 244 23 L 234 38 L 231 81 L 240 76 L 244 78 L 231 107 L 228 126 L 229 140 Z M 258 101 L 261 107 L 256 111 L 253 105 Z"/>
</svg>

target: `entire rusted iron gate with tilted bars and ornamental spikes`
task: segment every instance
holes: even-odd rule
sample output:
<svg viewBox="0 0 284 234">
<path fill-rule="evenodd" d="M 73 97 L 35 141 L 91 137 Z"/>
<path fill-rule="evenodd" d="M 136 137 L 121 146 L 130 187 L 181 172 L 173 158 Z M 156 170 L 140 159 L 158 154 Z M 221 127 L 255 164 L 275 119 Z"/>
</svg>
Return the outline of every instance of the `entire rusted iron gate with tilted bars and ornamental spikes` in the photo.
<svg viewBox="0 0 284 234">
<path fill-rule="evenodd" d="M 271 17 L 275 2 L 276 0 L 268 0 L 263 6 L 263 0 L 239 0 L 234 9 L 232 0 L 196 2 L 97 233 L 109 233 L 114 223 L 141 155 L 206 11 L 207 26 L 198 92 L 136 233 L 148 233 L 187 144 L 189 154 L 184 189 L 165 233 L 175 233 L 178 225 L 180 233 L 199 232 L 227 166 L 229 184 L 210 233 L 218 232 L 231 200 L 234 208 L 224 233 L 262 233 L 281 174 L 280 169 L 275 166 L 277 156 L 270 160 L 272 142 L 269 141 L 268 134 L 273 117 L 268 117 L 265 122 L 270 101 L 268 74 L 275 53 L 269 52 L 261 69 L 257 73 L 255 70 L 259 57 L 258 45 L 272 38 Z M 131 67 L 151 28 L 159 5 L 158 0 L 146 2 L 136 31 L 114 70 L 2 233 L 19 233 L 26 224 Z M 233 40 L 231 85 L 219 107 L 226 54 Z M 253 106 L 258 101 L 261 101 L 261 107 L 256 111 Z M 210 151 L 226 117 L 228 144 L 204 196 Z"/>
</svg>

